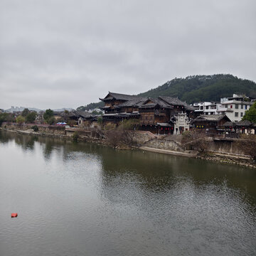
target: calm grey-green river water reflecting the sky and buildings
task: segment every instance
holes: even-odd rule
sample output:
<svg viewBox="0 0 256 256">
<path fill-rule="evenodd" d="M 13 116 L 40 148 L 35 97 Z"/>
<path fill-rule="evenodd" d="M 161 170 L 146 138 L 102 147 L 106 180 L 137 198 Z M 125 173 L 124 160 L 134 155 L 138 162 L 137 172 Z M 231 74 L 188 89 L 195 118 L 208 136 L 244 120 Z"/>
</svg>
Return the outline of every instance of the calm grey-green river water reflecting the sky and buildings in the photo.
<svg viewBox="0 0 256 256">
<path fill-rule="evenodd" d="M 0 202 L 1 256 L 256 255 L 255 169 L 1 132 Z"/>
</svg>

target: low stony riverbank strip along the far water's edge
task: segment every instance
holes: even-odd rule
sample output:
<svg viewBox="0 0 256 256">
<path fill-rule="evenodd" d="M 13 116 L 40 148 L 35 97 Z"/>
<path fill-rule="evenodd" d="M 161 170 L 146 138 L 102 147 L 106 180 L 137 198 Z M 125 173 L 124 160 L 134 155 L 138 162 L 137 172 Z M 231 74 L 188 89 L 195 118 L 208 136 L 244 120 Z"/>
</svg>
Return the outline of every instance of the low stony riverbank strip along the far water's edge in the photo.
<svg viewBox="0 0 256 256">
<path fill-rule="evenodd" d="M 25 134 L 25 135 L 33 135 L 33 136 L 40 136 L 40 137 L 53 137 L 53 138 L 58 138 L 58 139 L 63 139 L 63 140 L 69 140 L 72 141 L 73 137 L 68 136 L 64 133 L 60 132 L 52 132 L 52 133 L 47 133 L 42 132 L 42 129 L 40 132 L 34 132 L 33 129 L 14 129 L 12 127 L 11 129 L 8 127 L 0 127 L 0 130 L 4 130 L 6 132 L 14 132 L 16 134 Z M 106 139 L 99 139 L 99 138 L 89 138 L 89 137 L 79 137 L 78 142 L 91 142 L 91 143 L 96 143 L 96 144 L 103 144 L 106 146 L 110 146 L 110 144 L 107 143 Z M 196 159 L 203 159 L 207 161 L 215 161 L 215 162 L 220 162 L 222 164 L 235 164 L 235 165 L 240 165 L 240 166 L 247 166 L 253 169 L 256 169 L 256 163 L 252 161 L 250 156 L 245 156 L 245 155 L 240 155 L 240 154 L 228 154 L 228 153 L 223 153 L 220 151 L 206 151 L 203 153 L 199 153 L 198 151 L 174 151 L 174 150 L 169 150 L 169 149 L 159 149 L 152 146 L 139 146 L 139 147 L 133 147 L 136 149 L 140 149 L 142 151 L 151 151 L 159 154 L 171 154 L 174 156 L 186 156 L 190 158 L 196 158 Z M 118 149 L 131 149 L 130 147 L 122 147 Z"/>
</svg>

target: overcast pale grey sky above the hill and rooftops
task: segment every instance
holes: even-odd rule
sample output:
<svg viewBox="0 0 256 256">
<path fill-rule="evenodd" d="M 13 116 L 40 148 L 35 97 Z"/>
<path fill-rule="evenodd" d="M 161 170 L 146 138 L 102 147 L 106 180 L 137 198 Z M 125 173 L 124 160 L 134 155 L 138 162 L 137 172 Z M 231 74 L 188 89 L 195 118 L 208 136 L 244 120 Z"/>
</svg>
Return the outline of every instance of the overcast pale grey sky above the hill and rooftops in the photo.
<svg viewBox="0 0 256 256">
<path fill-rule="evenodd" d="M 1 0 L 0 108 L 230 73 L 256 81 L 255 0 Z"/>
</svg>

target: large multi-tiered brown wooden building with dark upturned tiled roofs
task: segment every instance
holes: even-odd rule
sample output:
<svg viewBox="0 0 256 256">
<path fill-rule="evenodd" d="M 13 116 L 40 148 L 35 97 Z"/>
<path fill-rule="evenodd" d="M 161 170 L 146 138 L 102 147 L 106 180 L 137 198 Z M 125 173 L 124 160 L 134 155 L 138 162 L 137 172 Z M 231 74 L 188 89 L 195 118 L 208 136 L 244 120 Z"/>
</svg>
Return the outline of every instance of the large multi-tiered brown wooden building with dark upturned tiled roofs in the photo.
<svg viewBox="0 0 256 256">
<path fill-rule="evenodd" d="M 174 97 L 146 98 L 134 95 L 122 95 L 109 92 L 105 98 L 102 110 L 103 122 L 118 124 L 123 119 L 139 119 L 139 129 L 154 133 L 173 133 L 173 118 L 178 113 L 193 117 L 194 108 Z"/>
</svg>

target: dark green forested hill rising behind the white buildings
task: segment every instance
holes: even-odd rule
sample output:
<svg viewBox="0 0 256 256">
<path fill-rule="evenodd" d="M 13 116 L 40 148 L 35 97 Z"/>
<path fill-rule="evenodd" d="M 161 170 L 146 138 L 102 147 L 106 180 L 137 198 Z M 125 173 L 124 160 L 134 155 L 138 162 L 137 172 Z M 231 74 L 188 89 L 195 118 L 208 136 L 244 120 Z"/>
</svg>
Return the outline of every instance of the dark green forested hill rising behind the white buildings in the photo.
<svg viewBox="0 0 256 256">
<path fill-rule="evenodd" d="M 140 93 L 143 97 L 178 97 L 187 103 L 220 101 L 220 97 L 232 97 L 233 93 L 256 97 L 256 83 L 233 75 L 193 75 L 174 78 L 155 89 Z"/>
</svg>

